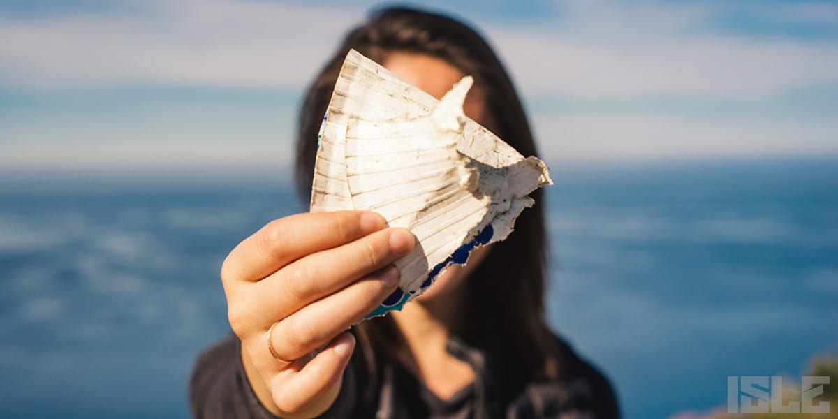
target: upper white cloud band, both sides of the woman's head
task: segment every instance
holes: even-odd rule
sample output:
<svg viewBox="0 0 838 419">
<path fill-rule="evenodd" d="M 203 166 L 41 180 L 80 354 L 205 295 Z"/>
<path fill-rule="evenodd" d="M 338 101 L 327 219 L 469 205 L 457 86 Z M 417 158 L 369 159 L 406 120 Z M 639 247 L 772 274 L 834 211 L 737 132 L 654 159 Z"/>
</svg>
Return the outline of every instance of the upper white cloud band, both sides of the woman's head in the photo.
<svg viewBox="0 0 838 419">
<path fill-rule="evenodd" d="M 763 97 L 838 82 L 835 42 L 742 39 L 702 29 L 724 3 L 559 6 L 549 22 L 481 25 L 525 93 Z M 772 7 L 815 22 L 836 10 Z M 42 90 L 300 86 L 365 13 L 230 0 L 154 1 L 127 10 L 0 21 L 0 82 Z"/>
</svg>

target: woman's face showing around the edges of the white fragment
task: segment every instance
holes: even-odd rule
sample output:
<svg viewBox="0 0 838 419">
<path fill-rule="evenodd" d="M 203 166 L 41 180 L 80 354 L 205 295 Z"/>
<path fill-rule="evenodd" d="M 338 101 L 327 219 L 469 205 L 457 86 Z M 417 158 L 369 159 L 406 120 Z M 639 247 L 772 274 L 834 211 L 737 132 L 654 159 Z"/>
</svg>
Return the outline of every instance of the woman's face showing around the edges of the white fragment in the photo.
<svg viewBox="0 0 838 419">
<path fill-rule="evenodd" d="M 395 52 L 389 54 L 382 64 L 401 80 L 415 85 L 437 99 L 442 98 L 447 91 L 451 90 L 454 83 L 464 76 L 462 71 L 448 64 L 444 59 L 425 54 Z M 466 96 L 465 103 L 463 103 L 463 112 L 466 116 L 484 126 L 491 125 L 486 120 L 488 115 L 485 109 L 483 92 L 477 86 L 472 87 L 468 96 Z M 418 297 L 416 301 L 430 301 L 436 299 L 437 296 L 452 292 L 480 264 L 480 261 L 483 261 L 489 252 L 489 247 L 484 246 L 473 251 L 471 256 L 468 257 L 468 265 L 466 266 L 454 265 L 448 267 L 437 278 L 434 286 L 422 294 L 422 297 Z"/>
</svg>

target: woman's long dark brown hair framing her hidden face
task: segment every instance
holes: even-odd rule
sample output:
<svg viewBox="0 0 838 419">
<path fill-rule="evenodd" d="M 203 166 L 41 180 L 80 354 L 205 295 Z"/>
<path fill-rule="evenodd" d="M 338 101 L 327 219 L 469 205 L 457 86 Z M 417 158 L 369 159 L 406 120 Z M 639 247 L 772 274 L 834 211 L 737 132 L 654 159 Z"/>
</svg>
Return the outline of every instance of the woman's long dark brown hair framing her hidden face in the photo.
<svg viewBox="0 0 838 419">
<path fill-rule="evenodd" d="M 530 126 L 509 75 L 489 44 L 472 28 L 452 18 L 411 8 L 385 8 L 354 28 L 308 90 L 299 115 L 297 187 L 308 202 L 318 147 L 318 129 L 335 81 L 349 49 L 378 63 L 388 54 L 406 52 L 444 59 L 472 75 L 484 93 L 489 128 L 525 156 L 536 155 Z M 471 344 L 499 348 L 504 386 L 520 389 L 525 381 L 558 374 L 559 351 L 547 326 L 546 226 L 541 189 L 530 195 L 535 205 L 525 209 L 515 232 L 495 243 L 483 263 L 468 277 L 467 330 L 459 331 Z M 355 327 L 368 368 L 373 349 L 385 351 L 399 341 L 390 317 L 373 318 Z M 379 356 L 380 354 L 376 354 Z M 500 389 L 499 389 L 500 390 Z"/>
</svg>

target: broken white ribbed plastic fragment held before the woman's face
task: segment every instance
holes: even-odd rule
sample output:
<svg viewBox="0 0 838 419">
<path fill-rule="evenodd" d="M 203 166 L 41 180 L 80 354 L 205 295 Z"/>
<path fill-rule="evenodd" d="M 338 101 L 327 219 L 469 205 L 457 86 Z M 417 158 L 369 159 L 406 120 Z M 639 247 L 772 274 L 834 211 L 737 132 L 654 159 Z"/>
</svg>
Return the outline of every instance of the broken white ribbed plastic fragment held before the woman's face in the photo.
<svg viewBox="0 0 838 419">
<path fill-rule="evenodd" d="M 463 115 L 473 80 L 441 101 L 350 50 L 320 129 L 311 211 L 368 209 L 416 235 L 396 261 L 399 288 L 370 317 L 401 307 L 473 249 L 502 241 L 527 196 L 553 184 L 546 165 L 524 158 Z"/>
</svg>

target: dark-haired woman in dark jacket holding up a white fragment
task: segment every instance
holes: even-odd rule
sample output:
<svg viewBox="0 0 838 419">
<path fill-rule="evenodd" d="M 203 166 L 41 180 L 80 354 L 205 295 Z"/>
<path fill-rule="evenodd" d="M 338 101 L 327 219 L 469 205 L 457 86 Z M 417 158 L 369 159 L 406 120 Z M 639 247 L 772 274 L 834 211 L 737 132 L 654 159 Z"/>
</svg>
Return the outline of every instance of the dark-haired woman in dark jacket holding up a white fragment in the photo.
<svg viewBox="0 0 838 419">
<path fill-rule="evenodd" d="M 451 18 L 388 8 L 349 33 L 308 91 L 297 142 L 306 201 L 318 128 L 349 49 L 437 98 L 473 75 L 466 115 L 535 155 L 484 39 Z M 360 211 L 272 221 L 222 267 L 235 337 L 195 366 L 195 416 L 618 416 L 608 381 L 546 324 L 544 207 L 540 191 L 531 196 L 535 206 L 506 241 L 474 251 L 401 312 L 359 324 L 396 289 L 391 264 L 413 248 L 411 233 Z"/>
</svg>

